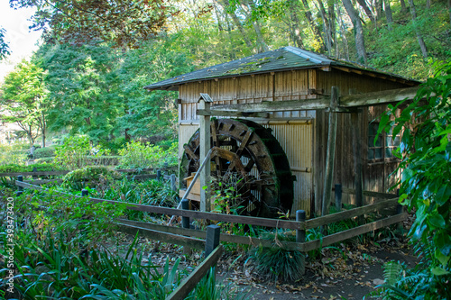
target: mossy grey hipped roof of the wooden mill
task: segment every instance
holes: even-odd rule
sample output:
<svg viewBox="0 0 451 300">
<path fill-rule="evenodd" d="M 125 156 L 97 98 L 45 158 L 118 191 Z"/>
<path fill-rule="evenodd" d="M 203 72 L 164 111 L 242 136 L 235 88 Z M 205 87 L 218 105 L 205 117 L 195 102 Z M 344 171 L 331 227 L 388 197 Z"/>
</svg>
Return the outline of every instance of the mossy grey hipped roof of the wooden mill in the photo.
<svg viewBox="0 0 451 300">
<path fill-rule="evenodd" d="M 388 75 L 387 73 L 376 71 L 372 68 L 365 68 L 364 66 L 358 64 L 339 59 L 331 59 L 318 53 L 288 46 L 278 50 L 255 54 L 244 59 L 228 61 L 213 67 L 198 69 L 187 74 L 153 83 L 149 86 L 144 86 L 144 88 L 150 90 L 177 89 L 177 86 L 179 85 L 198 80 L 208 80 L 221 77 L 238 77 L 297 68 L 322 68 L 329 66 L 358 68 Z M 392 77 L 392 75 L 390 76 Z"/>
</svg>

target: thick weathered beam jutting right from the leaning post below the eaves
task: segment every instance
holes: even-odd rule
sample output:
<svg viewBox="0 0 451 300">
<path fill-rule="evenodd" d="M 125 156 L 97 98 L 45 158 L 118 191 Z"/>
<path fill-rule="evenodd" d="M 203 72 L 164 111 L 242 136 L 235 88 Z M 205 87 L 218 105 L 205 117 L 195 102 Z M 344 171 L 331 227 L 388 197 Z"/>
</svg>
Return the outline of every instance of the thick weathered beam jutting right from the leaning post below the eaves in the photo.
<svg viewBox="0 0 451 300">
<path fill-rule="evenodd" d="M 355 107 L 369 105 L 386 105 L 400 102 L 404 99 L 413 99 L 419 90 L 418 86 L 397 88 L 388 91 L 365 93 L 360 95 L 344 95 L 340 97 L 340 107 Z"/>
</svg>

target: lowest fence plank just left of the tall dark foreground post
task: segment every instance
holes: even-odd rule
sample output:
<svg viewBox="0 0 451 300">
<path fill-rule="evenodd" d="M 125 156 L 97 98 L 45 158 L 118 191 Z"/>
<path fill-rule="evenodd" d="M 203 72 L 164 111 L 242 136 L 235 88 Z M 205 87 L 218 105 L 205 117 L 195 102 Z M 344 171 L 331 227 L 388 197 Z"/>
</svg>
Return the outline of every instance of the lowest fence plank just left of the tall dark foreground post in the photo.
<svg viewBox="0 0 451 300">
<path fill-rule="evenodd" d="M 124 223 L 117 224 L 117 231 L 124 232 L 132 235 L 136 235 L 137 232 L 139 236 L 143 236 L 152 240 L 165 241 L 171 244 L 176 244 L 180 246 L 187 246 L 190 248 L 195 248 L 203 250 L 205 248 L 205 241 L 193 239 L 186 236 L 181 236 L 178 234 L 172 234 L 168 232 L 158 232 L 150 229 L 136 227 Z"/>
</svg>

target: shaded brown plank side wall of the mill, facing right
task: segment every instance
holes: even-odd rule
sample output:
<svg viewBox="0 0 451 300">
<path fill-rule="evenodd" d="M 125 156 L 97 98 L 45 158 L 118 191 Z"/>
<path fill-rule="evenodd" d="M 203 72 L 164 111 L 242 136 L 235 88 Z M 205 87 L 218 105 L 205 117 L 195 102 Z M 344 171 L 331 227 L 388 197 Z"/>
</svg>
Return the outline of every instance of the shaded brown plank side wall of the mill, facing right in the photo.
<svg viewBox="0 0 451 300">
<path fill-rule="evenodd" d="M 331 72 L 318 72 L 318 88 L 323 88 L 325 94 L 330 95 L 331 86 L 338 86 L 340 95 L 361 94 L 376 92 L 401 87 L 408 87 L 400 83 L 383 80 L 375 77 L 365 77 L 354 73 L 340 70 Z M 386 193 L 396 177 L 389 175 L 396 169 L 398 163 L 394 159 L 386 161 L 369 161 L 368 159 L 368 126 L 369 123 L 378 119 L 387 109 L 386 105 L 363 107 L 359 113 L 358 124 L 360 128 L 361 149 L 364 190 Z M 323 195 L 324 169 L 326 168 L 326 148 L 328 131 L 328 113 L 318 110 L 315 125 L 315 145 L 317 154 L 315 157 L 315 211 L 320 211 Z M 336 160 L 334 171 L 334 182 L 345 187 L 354 188 L 354 153 L 352 146 L 352 130 L 350 114 L 338 114 L 336 134 Z M 394 193 L 394 192 L 392 192 Z M 354 195 L 343 195 L 343 203 L 354 205 Z M 372 198 L 364 199 L 366 203 L 372 202 Z"/>
</svg>

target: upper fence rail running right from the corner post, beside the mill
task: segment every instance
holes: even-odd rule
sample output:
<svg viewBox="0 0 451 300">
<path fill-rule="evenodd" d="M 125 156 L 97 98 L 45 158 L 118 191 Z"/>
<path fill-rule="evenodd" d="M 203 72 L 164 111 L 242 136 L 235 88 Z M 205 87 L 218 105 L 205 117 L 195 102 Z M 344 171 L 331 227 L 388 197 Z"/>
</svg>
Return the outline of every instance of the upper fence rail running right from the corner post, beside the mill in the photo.
<svg viewBox="0 0 451 300">
<path fill-rule="evenodd" d="M 305 223 L 306 229 L 309 228 L 317 228 L 319 226 L 327 225 L 329 223 L 335 223 L 343 220 L 347 220 L 350 218 L 354 218 L 355 216 L 359 216 L 362 214 L 367 214 L 373 211 L 377 211 L 382 208 L 386 208 L 390 205 L 398 204 L 398 198 L 393 198 L 389 200 L 384 200 L 379 203 L 373 204 L 373 205 L 364 205 L 362 207 L 357 207 L 354 209 L 350 209 L 344 212 L 336 213 L 336 214 L 328 214 L 325 216 L 321 216 L 315 219 L 307 220 Z"/>
</svg>

